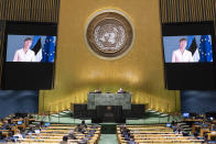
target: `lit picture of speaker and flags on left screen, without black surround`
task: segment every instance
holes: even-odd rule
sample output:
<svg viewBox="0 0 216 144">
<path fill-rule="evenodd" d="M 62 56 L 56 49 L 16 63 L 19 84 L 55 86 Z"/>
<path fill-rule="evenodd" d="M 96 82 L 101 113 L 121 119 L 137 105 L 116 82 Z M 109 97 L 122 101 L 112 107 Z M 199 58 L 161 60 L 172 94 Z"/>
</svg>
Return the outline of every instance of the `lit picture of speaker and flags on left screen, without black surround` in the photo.
<svg viewBox="0 0 216 144">
<path fill-rule="evenodd" d="M 7 62 L 44 62 L 55 59 L 56 36 L 8 35 Z"/>
</svg>

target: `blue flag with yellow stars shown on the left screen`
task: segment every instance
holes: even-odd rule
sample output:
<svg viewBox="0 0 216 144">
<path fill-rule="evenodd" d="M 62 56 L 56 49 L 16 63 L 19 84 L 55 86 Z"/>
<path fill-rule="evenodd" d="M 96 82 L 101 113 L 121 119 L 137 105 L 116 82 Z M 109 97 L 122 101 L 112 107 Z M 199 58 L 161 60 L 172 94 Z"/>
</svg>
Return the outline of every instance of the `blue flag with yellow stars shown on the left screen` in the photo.
<svg viewBox="0 0 216 144">
<path fill-rule="evenodd" d="M 55 36 L 46 36 L 42 51 L 42 62 L 54 62 L 55 58 Z"/>
</svg>

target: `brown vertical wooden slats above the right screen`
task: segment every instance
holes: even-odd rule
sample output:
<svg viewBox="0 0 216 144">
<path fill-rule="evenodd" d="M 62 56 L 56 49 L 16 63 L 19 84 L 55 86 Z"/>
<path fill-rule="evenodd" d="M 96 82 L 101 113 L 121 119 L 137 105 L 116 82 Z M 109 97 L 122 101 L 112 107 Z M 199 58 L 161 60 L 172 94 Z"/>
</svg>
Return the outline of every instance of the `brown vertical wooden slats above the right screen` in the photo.
<svg viewBox="0 0 216 144">
<path fill-rule="evenodd" d="M 202 21 L 216 23 L 216 0 L 160 0 L 160 7 L 162 23 Z"/>
</svg>

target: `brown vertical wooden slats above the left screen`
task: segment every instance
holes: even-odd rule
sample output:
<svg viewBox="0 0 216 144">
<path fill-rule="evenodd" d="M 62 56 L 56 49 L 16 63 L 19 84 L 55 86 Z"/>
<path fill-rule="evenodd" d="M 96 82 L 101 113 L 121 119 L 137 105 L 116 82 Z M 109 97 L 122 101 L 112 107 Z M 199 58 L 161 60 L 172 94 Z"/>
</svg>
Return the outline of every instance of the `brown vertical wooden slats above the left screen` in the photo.
<svg viewBox="0 0 216 144">
<path fill-rule="evenodd" d="M 1 0 L 0 20 L 57 22 L 60 0 Z"/>
</svg>

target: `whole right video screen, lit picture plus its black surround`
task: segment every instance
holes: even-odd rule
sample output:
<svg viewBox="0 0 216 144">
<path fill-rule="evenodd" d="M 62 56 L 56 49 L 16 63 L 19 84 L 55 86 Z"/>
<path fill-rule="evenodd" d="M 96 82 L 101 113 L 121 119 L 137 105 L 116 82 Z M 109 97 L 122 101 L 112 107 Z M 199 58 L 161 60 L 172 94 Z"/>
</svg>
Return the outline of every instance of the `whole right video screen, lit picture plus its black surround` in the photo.
<svg viewBox="0 0 216 144">
<path fill-rule="evenodd" d="M 214 22 L 162 24 L 165 88 L 215 90 Z"/>
</svg>

